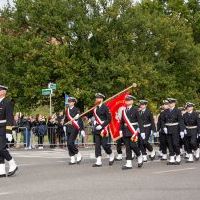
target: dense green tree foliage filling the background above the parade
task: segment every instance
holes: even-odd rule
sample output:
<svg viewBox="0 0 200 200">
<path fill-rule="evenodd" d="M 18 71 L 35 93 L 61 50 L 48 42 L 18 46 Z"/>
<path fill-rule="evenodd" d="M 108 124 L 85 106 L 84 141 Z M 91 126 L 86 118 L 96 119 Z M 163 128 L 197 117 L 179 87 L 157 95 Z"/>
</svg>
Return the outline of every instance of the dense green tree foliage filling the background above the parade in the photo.
<svg viewBox="0 0 200 200">
<path fill-rule="evenodd" d="M 86 106 L 133 82 L 155 110 L 172 96 L 200 105 L 198 0 L 15 0 L 1 10 L 1 82 L 22 111 L 45 105 L 41 89 L 55 82 Z"/>
</svg>

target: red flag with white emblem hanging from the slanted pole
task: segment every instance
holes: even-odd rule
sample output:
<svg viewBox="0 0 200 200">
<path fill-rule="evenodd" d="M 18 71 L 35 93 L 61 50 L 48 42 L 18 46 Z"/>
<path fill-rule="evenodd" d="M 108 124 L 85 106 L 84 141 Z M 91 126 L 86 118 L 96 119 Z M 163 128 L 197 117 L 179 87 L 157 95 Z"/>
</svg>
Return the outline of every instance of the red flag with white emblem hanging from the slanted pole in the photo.
<svg viewBox="0 0 200 200">
<path fill-rule="evenodd" d="M 125 107 L 125 97 L 129 94 L 129 92 L 125 92 L 117 96 L 116 98 L 110 100 L 106 103 L 106 105 L 110 109 L 110 113 L 112 116 L 111 123 L 109 124 L 110 134 L 114 141 L 121 138 L 120 131 L 120 119 L 122 116 L 122 110 Z"/>
</svg>

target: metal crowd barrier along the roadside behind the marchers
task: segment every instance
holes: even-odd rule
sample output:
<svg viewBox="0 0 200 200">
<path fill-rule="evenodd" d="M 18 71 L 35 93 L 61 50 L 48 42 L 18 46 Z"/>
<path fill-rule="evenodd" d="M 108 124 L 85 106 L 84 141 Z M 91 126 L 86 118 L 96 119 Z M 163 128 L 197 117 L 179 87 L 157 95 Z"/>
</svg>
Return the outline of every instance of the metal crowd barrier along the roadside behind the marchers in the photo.
<svg viewBox="0 0 200 200">
<path fill-rule="evenodd" d="M 85 137 L 81 134 L 78 135 L 76 144 L 82 147 L 88 147 L 94 145 L 94 136 L 92 134 L 92 126 L 86 126 Z M 42 149 L 43 147 L 55 148 L 65 147 L 67 141 L 66 129 L 63 131 L 58 127 L 47 127 L 46 133 L 43 135 L 37 134 L 37 127 L 32 127 L 30 130 L 26 127 L 17 127 L 13 131 L 13 141 L 8 143 L 10 147 L 25 148 L 25 149 Z M 151 135 L 149 139 L 150 143 L 157 144 L 158 138 Z M 115 143 L 109 138 L 109 143 L 114 145 Z"/>
</svg>

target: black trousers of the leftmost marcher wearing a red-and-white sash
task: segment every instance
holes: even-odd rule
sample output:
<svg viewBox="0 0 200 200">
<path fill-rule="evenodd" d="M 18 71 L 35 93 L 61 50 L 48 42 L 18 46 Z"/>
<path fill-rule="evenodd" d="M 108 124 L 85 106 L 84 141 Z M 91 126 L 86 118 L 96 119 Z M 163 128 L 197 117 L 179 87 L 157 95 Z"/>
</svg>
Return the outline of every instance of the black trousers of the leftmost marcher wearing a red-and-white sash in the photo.
<svg viewBox="0 0 200 200">
<path fill-rule="evenodd" d="M 74 128 L 72 125 L 67 125 L 67 148 L 69 151 L 69 156 L 74 156 L 78 153 L 78 148 L 75 144 L 76 138 L 78 136 L 79 130 Z"/>
</svg>

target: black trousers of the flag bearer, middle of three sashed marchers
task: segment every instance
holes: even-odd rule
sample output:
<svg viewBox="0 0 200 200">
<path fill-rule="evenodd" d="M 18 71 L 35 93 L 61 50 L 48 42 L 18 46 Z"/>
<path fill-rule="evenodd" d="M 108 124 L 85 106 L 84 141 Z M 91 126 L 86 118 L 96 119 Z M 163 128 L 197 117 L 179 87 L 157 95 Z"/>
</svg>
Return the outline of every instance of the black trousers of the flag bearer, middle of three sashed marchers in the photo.
<svg viewBox="0 0 200 200">
<path fill-rule="evenodd" d="M 100 135 L 100 132 L 95 131 L 94 140 L 95 140 L 95 156 L 96 156 L 96 158 L 101 156 L 101 146 L 103 147 L 104 151 L 108 155 L 110 155 L 112 153 L 111 145 L 108 143 L 109 142 L 108 137 L 102 137 Z"/>
</svg>

